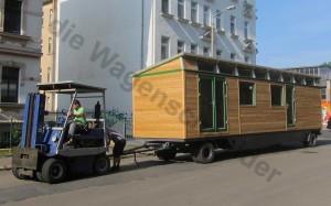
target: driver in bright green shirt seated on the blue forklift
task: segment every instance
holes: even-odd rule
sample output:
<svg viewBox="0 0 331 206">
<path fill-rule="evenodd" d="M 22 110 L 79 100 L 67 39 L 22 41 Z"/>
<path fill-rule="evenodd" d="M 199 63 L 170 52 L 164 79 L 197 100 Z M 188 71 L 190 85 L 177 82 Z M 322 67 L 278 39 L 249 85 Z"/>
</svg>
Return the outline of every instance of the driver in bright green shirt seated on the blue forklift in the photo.
<svg viewBox="0 0 331 206">
<path fill-rule="evenodd" d="M 86 113 L 84 107 L 81 106 L 79 100 L 73 101 L 73 110 L 67 112 L 70 129 L 68 129 L 68 141 L 65 145 L 74 144 L 74 134 L 76 131 L 83 131 L 86 128 Z"/>
</svg>

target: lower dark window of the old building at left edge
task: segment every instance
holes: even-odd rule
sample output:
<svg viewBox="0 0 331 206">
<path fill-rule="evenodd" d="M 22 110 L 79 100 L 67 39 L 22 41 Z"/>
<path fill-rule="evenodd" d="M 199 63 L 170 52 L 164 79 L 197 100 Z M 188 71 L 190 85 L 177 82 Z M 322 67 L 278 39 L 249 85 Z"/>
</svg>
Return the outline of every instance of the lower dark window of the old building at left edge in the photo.
<svg viewBox="0 0 331 206">
<path fill-rule="evenodd" d="M 1 102 L 18 102 L 19 75 L 19 68 L 2 67 Z"/>
</svg>

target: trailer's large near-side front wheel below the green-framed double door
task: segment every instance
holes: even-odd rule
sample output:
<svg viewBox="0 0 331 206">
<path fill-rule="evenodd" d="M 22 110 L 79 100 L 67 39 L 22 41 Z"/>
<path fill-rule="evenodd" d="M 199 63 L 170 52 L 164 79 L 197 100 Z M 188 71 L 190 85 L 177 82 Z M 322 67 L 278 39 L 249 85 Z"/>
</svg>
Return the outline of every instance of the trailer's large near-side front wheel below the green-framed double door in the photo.
<svg viewBox="0 0 331 206">
<path fill-rule="evenodd" d="M 215 150 L 210 142 L 200 144 L 191 153 L 192 160 L 196 163 L 207 164 L 213 162 L 215 156 Z"/>
</svg>

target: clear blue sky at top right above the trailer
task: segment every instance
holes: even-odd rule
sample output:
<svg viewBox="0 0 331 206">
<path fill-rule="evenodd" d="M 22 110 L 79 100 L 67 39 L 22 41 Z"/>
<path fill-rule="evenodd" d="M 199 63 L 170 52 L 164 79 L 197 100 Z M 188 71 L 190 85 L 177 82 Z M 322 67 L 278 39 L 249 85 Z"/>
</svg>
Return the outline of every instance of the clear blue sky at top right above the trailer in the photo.
<svg viewBox="0 0 331 206">
<path fill-rule="evenodd" d="M 257 65 L 331 62 L 331 0 L 256 0 Z"/>
</svg>

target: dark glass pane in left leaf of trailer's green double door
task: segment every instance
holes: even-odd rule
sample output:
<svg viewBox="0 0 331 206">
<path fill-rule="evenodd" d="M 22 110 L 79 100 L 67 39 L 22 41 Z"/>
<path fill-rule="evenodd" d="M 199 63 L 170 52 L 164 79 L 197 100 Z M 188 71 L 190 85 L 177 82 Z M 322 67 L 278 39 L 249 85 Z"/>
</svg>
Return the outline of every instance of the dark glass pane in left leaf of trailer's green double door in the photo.
<svg viewBox="0 0 331 206">
<path fill-rule="evenodd" d="M 200 79 L 200 121 L 202 129 L 214 128 L 213 121 L 213 80 Z"/>
</svg>

